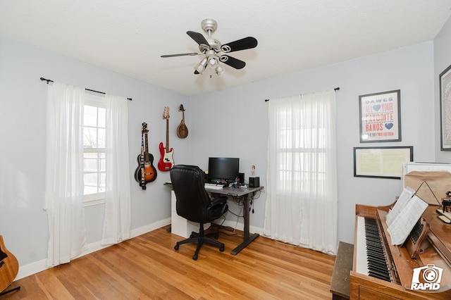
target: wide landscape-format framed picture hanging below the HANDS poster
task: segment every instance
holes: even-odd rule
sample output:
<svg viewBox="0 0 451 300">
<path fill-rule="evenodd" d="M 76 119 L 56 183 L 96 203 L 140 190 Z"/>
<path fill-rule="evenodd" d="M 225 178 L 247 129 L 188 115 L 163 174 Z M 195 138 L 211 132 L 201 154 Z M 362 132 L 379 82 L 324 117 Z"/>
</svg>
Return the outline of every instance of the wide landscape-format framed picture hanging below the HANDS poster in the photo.
<svg viewBox="0 0 451 300">
<path fill-rule="evenodd" d="M 401 179 L 403 163 L 414 161 L 414 146 L 354 147 L 354 177 Z"/>
</svg>

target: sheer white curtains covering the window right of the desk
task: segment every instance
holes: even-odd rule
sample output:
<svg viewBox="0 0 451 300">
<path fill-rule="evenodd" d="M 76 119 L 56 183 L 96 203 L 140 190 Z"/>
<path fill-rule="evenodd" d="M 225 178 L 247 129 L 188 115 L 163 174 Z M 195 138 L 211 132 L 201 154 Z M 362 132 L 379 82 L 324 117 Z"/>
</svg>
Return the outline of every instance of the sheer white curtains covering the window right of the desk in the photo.
<svg viewBox="0 0 451 300">
<path fill-rule="evenodd" d="M 333 89 L 271 99 L 264 235 L 335 254 L 337 158 Z"/>
</svg>

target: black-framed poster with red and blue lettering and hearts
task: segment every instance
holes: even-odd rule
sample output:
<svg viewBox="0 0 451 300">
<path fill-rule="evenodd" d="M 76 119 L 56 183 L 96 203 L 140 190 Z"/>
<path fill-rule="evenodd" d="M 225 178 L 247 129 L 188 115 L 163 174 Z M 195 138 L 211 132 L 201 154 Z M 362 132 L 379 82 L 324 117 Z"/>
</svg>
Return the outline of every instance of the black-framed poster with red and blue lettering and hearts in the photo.
<svg viewBox="0 0 451 300">
<path fill-rule="evenodd" d="M 401 141 L 400 101 L 400 89 L 359 96 L 361 143 Z"/>
</svg>

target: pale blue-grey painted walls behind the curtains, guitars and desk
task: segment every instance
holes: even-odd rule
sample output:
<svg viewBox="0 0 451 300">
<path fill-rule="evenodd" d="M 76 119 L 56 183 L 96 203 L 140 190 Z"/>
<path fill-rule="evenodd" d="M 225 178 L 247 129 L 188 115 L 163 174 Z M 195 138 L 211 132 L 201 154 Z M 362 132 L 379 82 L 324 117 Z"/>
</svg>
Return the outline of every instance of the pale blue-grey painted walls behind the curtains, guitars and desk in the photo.
<svg viewBox="0 0 451 300">
<path fill-rule="evenodd" d="M 449 28 L 449 23 L 447 28 Z M 266 185 L 267 103 L 264 99 L 340 87 L 338 101 L 338 201 L 339 239 L 353 242 L 354 205 L 390 204 L 401 191 L 400 180 L 353 177 L 354 146 L 414 146 L 416 161 L 435 161 L 437 147 L 437 97 L 434 82 L 447 62 L 450 30 L 445 44 L 426 42 L 242 85 L 223 92 L 186 97 L 108 70 L 0 37 L 0 234 L 18 258 L 20 268 L 47 257 L 47 215 L 44 207 L 46 77 L 131 97 L 129 108 L 130 182 L 132 230 L 144 232 L 167 223 L 170 193 L 163 182 L 168 173 L 140 189 L 133 179 L 140 153 L 140 127 L 149 124 L 150 152 L 159 158 L 158 144 L 166 139 L 164 106 L 170 106 L 170 142 L 175 163 L 197 164 L 206 169 L 209 156 L 240 157 L 240 171 L 249 177 L 256 165 L 261 185 Z M 442 58 L 435 61 L 435 56 Z M 226 74 L 223 76 L 227 76 Z M 401 89 L 402 142 L 359 143 L 358 97 L 362 94 Z M 434 102 L 435 99 L 435 102 Z M 186 108 L 190 135 L 178 139 L 179 104 Z M 435 106 L 434 106 L 435 104 Z M 434 109 L 435 108 L 435 109 Z M 444 157 L 440 161 L 450 161 Z M 266 193 L 254 201 L 251 230 L 264 225 Z M 87 208 L 88 242 L 99 242 L 103 207 Z M 237 207 L 231 206 L 235 212 Z M 235 210 L 236 209 L 236 210 Z M 327 209 L 327 208 L 324 208 Z M 228 220 L 236 220 L 229 214 Z"/>
</svg>

